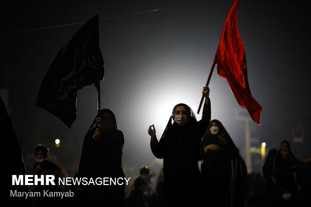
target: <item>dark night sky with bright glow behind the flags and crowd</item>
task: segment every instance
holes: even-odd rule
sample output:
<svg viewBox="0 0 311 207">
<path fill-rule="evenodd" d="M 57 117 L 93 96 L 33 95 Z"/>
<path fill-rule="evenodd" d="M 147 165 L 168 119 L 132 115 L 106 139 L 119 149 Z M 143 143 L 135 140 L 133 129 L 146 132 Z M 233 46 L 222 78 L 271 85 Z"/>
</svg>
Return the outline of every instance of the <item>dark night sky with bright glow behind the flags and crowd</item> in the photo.
<svg viewBox="0 0 311 207">
<path fill-rule="evenodd" d="M 86 21 L 96 13 L 105 61 L 101 105 L 116 115 L 125 136 L 125 173 L 161 163 L 149 148 L 152 123 L 158 137 L 179 102 L 194 110 L 219 43 L 233 0 L 10 1 L 1 8 L 1 32 Z M 184 4 L 185 5 L 180 5 Z M 178 6 L 176 6 L 178 5 Z M 154 12 L 140 13 L 157 8 Z M 261 104 L 261 125 L 251 122 L 260 147 L 278 148 L 291 140 L 299 121 L 310 133 L 310 2 L 305 0 L 240 0 L 238 27 L 243 40 L 251 92 Z M 135 15 L 128 15 L 137 13 Z M 96 115 L 94 86 L 78 91 L 77 119 L 69 129 L 57 117 L 36 107 L 41 81 L 64 43 L 82 24 L 1 33 L 0 87 L 18 135 L 28 172 L 33 148 L 46 143 L 51 159 L 69 175 L 78 167 L 84 135 Z M 216 71 L 210 82 L 212 118 L 219 119 L 243 155 L 244 123 L 226 79 Z M 243 110 L 243 109 L 242 109 Z M 245 109 L 244 109 L 245 110 Z M 245 110 L 246 111 L 246 110 Z M 201 112 L 202 113 L 202 112 Z M 197 118 L 201 118 L 201 113 Z M 310 136 L 309 136 L 310 137 Z M 55 147 L 60 138 L 60 147 Z M 307 140 L 305 140 L 306 143 Z M 259 144 L 259 145 L 258 145 Z M 311 154 L 301 148 L 301 158 Z M 132 171 L 131 171 L 132 170 Z"/>
</svg>

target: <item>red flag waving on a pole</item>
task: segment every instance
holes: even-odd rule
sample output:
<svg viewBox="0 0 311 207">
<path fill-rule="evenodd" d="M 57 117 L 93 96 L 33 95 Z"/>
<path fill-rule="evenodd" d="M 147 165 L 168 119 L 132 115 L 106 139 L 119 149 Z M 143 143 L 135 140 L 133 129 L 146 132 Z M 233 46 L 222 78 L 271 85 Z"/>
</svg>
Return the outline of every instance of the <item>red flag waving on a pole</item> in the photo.
<svg viewBox="0 0 311 207">
<path fill-rule="evenodd" d="M 229 10 L 221 32 L 214 63 L 217 63 L 218 74 L 227 78 L 238 103 L 247 108 L 252 119 L 260 124 L 262 108 L 253 98 L 248 85 L 245 49 L 237 23 L 238 5 L 239 0 L 235 0 Z"/>
</svg>

